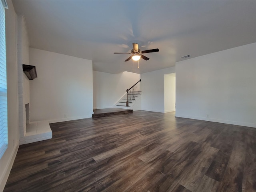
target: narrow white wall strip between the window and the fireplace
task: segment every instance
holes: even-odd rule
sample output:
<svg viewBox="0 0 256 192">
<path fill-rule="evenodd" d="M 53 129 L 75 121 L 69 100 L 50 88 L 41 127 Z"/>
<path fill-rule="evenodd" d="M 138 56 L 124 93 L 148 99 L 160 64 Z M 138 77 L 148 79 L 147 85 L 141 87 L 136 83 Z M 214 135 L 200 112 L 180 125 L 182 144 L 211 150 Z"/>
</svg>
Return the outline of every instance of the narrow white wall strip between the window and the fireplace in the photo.
<svg viewBox="0 0 256 192">
<path fill-rule="evenodd" d="M 12 1 L 6 9 L 6 64 L 8 95 L 8 148 L 0 160 L 0 191 L 2 192 L 19 147 L 17 18 Z"/>
</svg>

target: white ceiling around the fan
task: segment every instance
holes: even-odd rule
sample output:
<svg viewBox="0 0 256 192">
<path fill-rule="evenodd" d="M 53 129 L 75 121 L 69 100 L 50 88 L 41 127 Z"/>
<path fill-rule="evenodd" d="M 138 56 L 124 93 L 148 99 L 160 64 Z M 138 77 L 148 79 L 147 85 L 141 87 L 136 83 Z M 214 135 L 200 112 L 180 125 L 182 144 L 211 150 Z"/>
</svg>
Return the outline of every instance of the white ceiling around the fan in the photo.
<svg viewBox="0 0 256 192">
<path fill-rule="evenodd" d="M 256 1 L 13 1 L 30 47 L 93 61 L 93 70 L 145 73 L 256 42 Z M 124 62 L 132 43 L 150 60 Z"/>
</svg>

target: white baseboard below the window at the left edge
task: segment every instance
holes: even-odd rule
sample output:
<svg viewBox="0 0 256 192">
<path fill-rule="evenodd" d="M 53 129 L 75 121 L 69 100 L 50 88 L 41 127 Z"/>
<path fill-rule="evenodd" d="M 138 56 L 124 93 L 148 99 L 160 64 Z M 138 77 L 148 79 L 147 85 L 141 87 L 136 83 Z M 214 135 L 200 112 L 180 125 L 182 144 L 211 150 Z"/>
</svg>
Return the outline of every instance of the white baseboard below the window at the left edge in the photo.
<svg viewBox="0 0 256 192">
<path fill-rule="evenodd" d="M 12 155 L 10 157 L 10 163 L 5 167 L 4 169 L 4 174 L 3 177 L 1 178 L 1 183 L 0 183 L 0 192 L 2 192 L 4 190 L 4 186 L 6 185 L 6 182 L 8 180 L 8 177 L 10 175 L 11 169 L 12 169 L 12 165 L 14 163 L 15 157 L 17 155 L 19 149 L 19 145 L 17 144 L 16 147 L 14 148 Z M 3 168 L 3 167 L 2 167 Z"/>
</svg>

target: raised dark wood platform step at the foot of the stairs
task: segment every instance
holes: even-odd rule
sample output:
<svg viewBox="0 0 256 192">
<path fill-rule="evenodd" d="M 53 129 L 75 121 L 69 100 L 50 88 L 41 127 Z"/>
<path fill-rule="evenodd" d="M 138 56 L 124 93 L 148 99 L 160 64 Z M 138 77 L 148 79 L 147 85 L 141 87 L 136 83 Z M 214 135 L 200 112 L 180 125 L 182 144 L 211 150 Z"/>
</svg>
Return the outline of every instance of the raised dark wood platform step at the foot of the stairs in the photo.
<svg viewBox="0 0 256 192">
<path fill-rule="evenodd" d="M 95 117 L 106 117 L 118 114 L 132 113 L 132 109 L 120 109 L 120 108 L 108 108 L 108 109 L 94 109 L 92 118 Z"/>
</svg>

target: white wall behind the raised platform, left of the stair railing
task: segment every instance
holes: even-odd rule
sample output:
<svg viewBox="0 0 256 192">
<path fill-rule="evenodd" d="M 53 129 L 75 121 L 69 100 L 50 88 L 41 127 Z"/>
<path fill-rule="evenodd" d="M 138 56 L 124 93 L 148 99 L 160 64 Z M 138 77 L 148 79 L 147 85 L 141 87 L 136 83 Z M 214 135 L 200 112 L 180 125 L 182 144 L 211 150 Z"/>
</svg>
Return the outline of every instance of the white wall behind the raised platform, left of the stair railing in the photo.
<svg viewBox="0 0 256 192">
<path fill-rule="evenodd" d="M 113 108 L 126 94 L 126 89 L 140 80 L 140 75 L 131 72 L 110 74 L 93 71 L 93 108 Z"/>
</svg>

